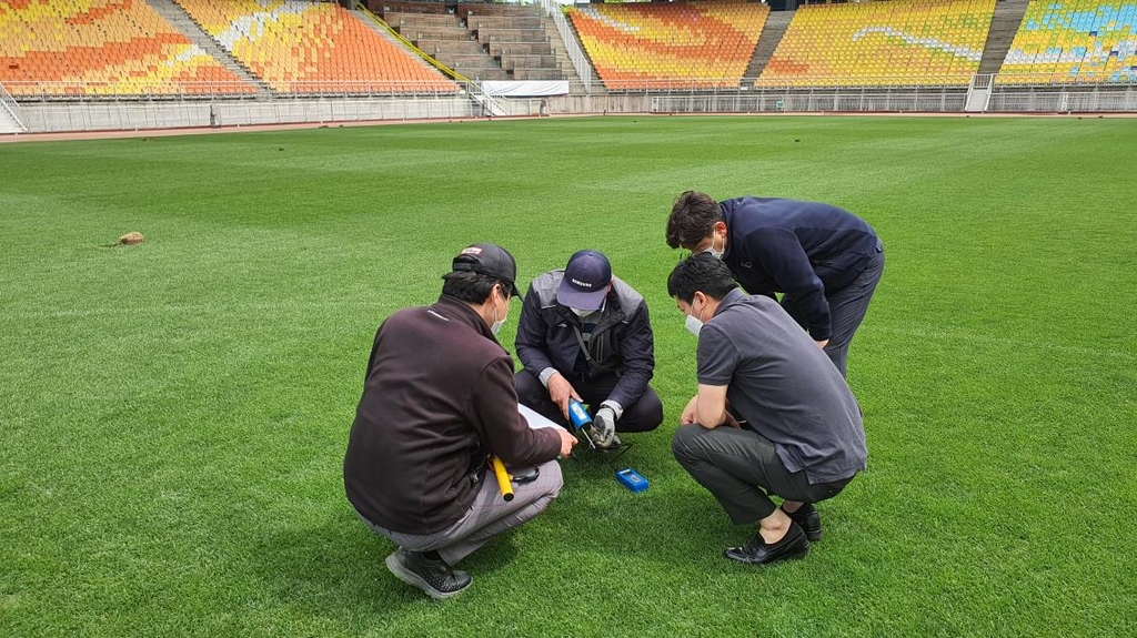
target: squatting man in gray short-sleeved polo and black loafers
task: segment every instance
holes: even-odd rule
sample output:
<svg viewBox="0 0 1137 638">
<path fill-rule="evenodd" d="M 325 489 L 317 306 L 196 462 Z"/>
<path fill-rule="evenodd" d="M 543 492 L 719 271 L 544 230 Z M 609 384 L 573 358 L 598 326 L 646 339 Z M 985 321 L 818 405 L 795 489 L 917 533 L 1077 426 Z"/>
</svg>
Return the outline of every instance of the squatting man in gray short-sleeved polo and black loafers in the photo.
<svg viewBox="0 0 1137 638">
<path fill-rule="evenodd" d="M 667 294 L 698 336 L 698 394 L 672 451 L 735 524 L 758 523 L 753 540 L 723 555 L 750 564 L 804 556 L 821 538 L 813 503 L 865 467 L 856 398 L 778 302 L 747 296 L 714 257 L 675 266 Z"/>
</svg>

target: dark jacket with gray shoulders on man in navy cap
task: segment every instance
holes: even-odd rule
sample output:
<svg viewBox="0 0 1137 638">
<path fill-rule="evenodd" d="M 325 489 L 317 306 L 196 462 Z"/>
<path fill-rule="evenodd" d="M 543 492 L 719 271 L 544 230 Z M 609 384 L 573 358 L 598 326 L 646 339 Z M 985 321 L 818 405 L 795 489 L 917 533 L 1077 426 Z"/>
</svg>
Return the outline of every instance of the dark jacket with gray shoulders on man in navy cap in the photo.
<svg viewBox="0 0 1137 638">
<path fill-rule="evenodd" d="M 580 319 L 567 307 L 557 303 L 557 287 L 564 270 L 541 275 L 529 286 L 521 307 L 517 359 L 534 377 L 541 370 L 555 368 L 566 377 L 575 367 L 580 353 L 573 327 Z M 655 370 L 655 338 L 648 319 L 647 302 L 620 278 L 612 278 L 612 289 L 600 319 L 588 343 L 592 358 L 590 375 L 620 376 L 607 400 L 622 408 L 639 401 Z"/>
</svg>

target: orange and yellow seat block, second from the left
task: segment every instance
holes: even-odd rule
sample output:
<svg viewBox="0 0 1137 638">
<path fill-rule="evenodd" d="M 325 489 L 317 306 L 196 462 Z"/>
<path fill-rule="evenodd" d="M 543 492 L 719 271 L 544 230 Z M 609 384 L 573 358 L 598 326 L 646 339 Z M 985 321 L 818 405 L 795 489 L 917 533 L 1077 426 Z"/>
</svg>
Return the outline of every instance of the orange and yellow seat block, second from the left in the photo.
<svg viewBox="0 0 1137 638">
<path fill-rule="evenodd" d="M 175 0 L 277 93 L 457 92 L 458 85 L 331 2 Z"/>
</svg>

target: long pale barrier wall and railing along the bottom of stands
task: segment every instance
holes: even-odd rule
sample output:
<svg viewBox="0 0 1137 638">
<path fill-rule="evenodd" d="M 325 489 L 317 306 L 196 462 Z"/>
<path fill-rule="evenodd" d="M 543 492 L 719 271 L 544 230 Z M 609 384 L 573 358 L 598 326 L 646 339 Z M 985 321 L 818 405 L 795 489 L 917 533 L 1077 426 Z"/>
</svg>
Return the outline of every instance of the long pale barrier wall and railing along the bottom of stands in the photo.
<svg viewBox="0 0 1137 638">
<path fill-rule="evenodd" d="M 30 132 L 152 129 L 482 117 L 588 114 L 750 114 L 750 112 L 964 112 L 966 86 L 843 86 L 706 89 L 675 82 L 655 90 L 588 93 L 570 86 L 567 95 L 491 96 L 476 83 L 455 89 L 362 95 L 355 84 L 289 86 L 294 93 L 272 99 L 214 95 L 99 96 L 22 100 Z M 374 87 L 373 87 L 374 89 Z M 1137 112 L 1137 84 L 1001 86 L 995 81 L 987 112 Z"/>
</svg>

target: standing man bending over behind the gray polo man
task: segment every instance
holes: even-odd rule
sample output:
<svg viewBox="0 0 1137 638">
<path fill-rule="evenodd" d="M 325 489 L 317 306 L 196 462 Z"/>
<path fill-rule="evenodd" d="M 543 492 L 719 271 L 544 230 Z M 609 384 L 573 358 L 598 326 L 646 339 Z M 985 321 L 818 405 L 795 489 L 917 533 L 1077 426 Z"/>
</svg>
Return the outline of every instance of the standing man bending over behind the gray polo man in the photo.
<svg viewBox="0 0 1137 638">
<path fill-rule="evenodd" d="M 885 270 L 885 246 L 863 219 L 816 202 L 716 202 L 687 191 L 667 218 L 667 245 L 723 260 L 750 294 L 782 293 L 782 308 L 846 376 L 849 342 Z"/>
</svg>

